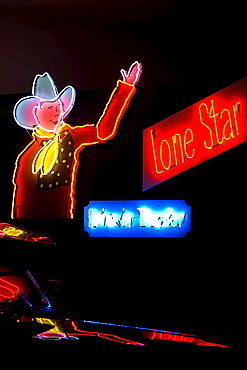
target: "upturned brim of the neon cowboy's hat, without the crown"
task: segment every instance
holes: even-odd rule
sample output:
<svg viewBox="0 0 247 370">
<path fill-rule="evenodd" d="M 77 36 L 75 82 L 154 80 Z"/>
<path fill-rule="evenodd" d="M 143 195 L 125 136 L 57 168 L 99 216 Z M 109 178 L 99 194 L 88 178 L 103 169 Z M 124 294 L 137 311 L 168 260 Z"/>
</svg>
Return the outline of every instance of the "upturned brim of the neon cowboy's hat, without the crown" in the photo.
<svg viewBox="0 0 247 370">
<path fill-rule="evenodd" d="M 13 115 L 14 115 L 14 119 L 15 121 L 17 122 L 17 124 L 23 128 L 26 128 L 26 129 L 29 129 L 29 130 L 33 130 L 36 126 L 37 126 L 37 122 L 36 122 L 36 119 L 33 115 L 33 107 L 34 106 L 37 106 L 38 103 L 40 101 L 43 101 L 43 102 L 55 102 L 56 100 L 60 99 L 62 102 L 63 102 L 63 95 L 67 92 L 67 91 L 70 91 L 71 92 L 71 97 L 70 97 L 70 102 L 69 104 L 67 105 L 67 109 L 65 109 L 65 111 L 62 113 L 61 115 L 61 120 L 62 118 L 65 118 L 68 113 L 71 111 L 71 109 L 73 108 L 74 106 L 74 102 L 75 102 L 75 89 L 73 88 L 73 86 L 71 85 L 68 85 L 66 86 L 61 92 L 60 94 L 56 95 L 53 99 L 43 99 L 43 98 L 40 98 L 39 96 L 35 96 L 35 95 L 30 95 L 30 96 L 26 96 L 20 100 L 18 100 L 18 102 L 15 104 L 14 106 L 14 110 L 13 110 Z M 26 111 L 28 110 L 28 108 L 30 109 L 31 113 L 32 113 L 32 120 L 29 124 L 24 124 L 23 121 L 25 119 L 20 119 L 18 117 L 18 109 L 20 109 L 21 107 L 21 104 L 23 104 L 23 102 L 27 102 L 28 100 L 30 100 L 30 104 L 27 104 L 27 109 Z M 63 102 L 63 105 L 64 105 L 64 102 Z M 27 115 L 27 114 L 26 114 Z M 30 120 L 30 117 L 29 117 L 29 120 Z"/>
</svg>

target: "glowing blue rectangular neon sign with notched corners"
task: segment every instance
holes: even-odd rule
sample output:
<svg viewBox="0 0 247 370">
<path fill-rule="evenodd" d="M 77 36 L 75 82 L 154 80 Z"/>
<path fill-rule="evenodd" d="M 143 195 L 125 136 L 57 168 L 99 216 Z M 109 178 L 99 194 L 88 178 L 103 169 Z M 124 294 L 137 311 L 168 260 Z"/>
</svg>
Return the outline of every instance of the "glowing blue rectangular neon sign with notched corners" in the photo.
<svg viewBox="0 0 247 370">
<path fill-rule="evenodd" d="M 84 230 L 94 237 L 184 237 L 191 207 L 184 200 L 92 201 Z"/>
</svg>

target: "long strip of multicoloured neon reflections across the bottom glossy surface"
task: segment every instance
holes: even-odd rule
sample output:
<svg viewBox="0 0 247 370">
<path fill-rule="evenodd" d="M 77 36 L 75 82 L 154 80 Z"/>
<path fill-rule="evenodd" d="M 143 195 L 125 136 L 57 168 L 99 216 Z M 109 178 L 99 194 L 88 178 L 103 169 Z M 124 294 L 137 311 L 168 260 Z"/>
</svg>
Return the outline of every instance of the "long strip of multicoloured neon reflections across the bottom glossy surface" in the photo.
<svg viewBox="0 0 247 370">
<path fill-rule="evenodd" d="M 154 330 L 141 327 L 132 327 L 121 324 L 87 322 L 86 320 L 73 320 L 68 318 L 53 317 L 55 312 L 32 311 L 23 316 L 13 314 L 7 320 L 2 320 L 0 316 L 0 336 L 6 332 L 11 337 L 28 338 L 29 340 L 42 341 L 82 341 L 82 345 L 90 343 L 93 346 L 101 343 L 116 343 L 117 345 L 132 345 L 139 347 L 155 348 L 156 343 L 162 344 L 157 348 L 170 348 L 167 343 L 173 343 L 176 349 L 176 343 L 180 343 L 185 350 L 190 347 L 243 349 L 246 348 L 247 338 L 238 335 L 228 334 L 206 334 L 204 332 L 197 334 L 184 334 L 179 332 L 169 332 L 164 330 Z M 42 316 L 43 315 L 43 316 Z M 3 316 L 3 315 L 2 315 Z M 47 317 L 45 317 L 47 316 Z M 4 325 L 2 325 L 4 324 Z M 19 327 L 18 327 L 19 326 Z M 4 332 L 5 330 L 5 332 Z M 89 339 L 92 338 L 92 339 Z M 101 342 L 101 340 L 104 340 Z M 208 353 L 208 352 L 207 352 Z"/>
</svg>

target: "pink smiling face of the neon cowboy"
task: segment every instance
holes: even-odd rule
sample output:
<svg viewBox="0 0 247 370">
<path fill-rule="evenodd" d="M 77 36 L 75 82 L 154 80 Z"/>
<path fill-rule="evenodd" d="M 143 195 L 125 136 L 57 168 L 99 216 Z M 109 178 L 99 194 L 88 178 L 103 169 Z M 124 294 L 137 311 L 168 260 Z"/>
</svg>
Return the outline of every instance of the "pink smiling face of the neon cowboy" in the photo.
<svg viewBox="0 0 247 370">
<path fill-rule="evenodd" d="M 40 101 L 38 106 L 33 108 L 33 114 L 39 126 L 47 131 L 54 132 L 62 119 L 62 102 L 59 99 L 54 102 Z"/>
</svg>

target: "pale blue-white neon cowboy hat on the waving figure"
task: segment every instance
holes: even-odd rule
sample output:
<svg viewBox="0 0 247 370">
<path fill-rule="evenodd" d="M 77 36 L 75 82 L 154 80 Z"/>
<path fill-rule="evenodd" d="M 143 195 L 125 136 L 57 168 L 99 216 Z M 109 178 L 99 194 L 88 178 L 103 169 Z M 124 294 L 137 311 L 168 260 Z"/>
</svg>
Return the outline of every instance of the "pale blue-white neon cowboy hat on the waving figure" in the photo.
<svg viewBox="0 0 247 370">
<path fill-rule="evenodd" d="M 75 89 L 73 86 L 66 86 L 60 93 L 49 75 L 45 72 L 42 75 L 36 75 L 33 80 L 32 95 L 20 99 L 14 107 L 14 119 L 18 125 L 32 130 L 37 126 L 37 121 L 33 115 L 33 108 L 38 105 L 40 101 L 54 102 L 60 99 L 63 106 L 62 118 L 64 119 L 75 102 Z"/>
</svg>

